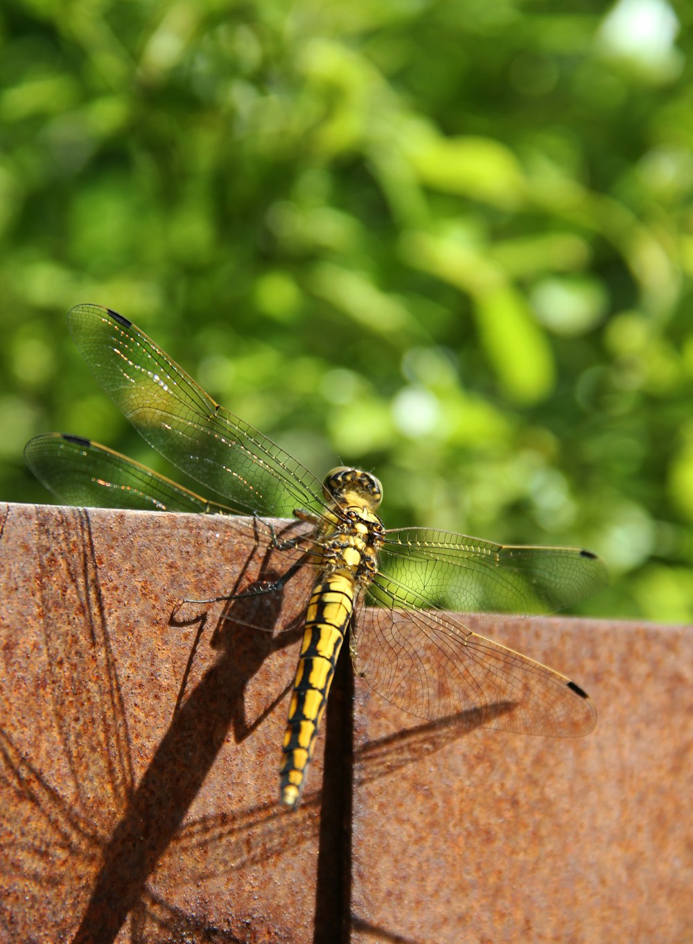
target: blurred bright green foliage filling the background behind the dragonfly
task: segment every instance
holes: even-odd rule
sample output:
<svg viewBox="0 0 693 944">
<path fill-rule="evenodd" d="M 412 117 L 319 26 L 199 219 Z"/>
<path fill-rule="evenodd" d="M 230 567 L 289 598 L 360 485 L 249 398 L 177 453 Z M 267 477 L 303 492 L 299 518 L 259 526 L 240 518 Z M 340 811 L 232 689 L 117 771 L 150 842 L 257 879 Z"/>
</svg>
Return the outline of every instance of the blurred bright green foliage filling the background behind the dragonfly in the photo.
<svg viewBox="0 0 693 944">
<path fill-rule="evenodd" d="M 678 17 L 678 20 L 677 20 Z M 163 464 L 65 325 L 123 312 L 391 525 L 579 544 L 693 618 L 693 8 L 8 0 L 0 495 L 35 433 Z"/>
</svg>

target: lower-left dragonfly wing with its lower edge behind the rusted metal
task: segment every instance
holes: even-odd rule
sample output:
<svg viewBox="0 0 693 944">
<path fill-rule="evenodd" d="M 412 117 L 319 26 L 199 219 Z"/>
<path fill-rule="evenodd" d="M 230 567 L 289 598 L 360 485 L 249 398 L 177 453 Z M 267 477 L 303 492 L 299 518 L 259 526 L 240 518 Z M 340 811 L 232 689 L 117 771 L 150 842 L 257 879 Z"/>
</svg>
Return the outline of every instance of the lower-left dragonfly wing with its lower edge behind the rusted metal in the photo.
<svg viewBox="0 0 693 944">
<path fill-rule="evenodd" d="M 26 444 L 25 459 L 37 479 L 66 504 L 145 512 L 232 514 L 223 505 L 195 495 L 146 465 L 80 436 L 59 432 L 36 436 Z"/>
</svg>

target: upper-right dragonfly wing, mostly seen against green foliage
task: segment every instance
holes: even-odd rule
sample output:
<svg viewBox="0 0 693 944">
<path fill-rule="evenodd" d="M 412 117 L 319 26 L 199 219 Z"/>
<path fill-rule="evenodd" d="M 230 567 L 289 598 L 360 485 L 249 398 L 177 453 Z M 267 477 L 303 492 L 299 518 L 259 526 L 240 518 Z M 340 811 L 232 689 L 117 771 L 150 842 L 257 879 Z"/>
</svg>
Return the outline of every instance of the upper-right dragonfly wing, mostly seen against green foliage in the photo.
<svg viewBox="0 0 693 944">
<path fill-rule="evenodd" d="M 388 531 L 380 571 L 395 605 L 516 615 L 562 610 L 608 580 L 588 550 L 512 547 L 425 528 Z"/>
</svg>

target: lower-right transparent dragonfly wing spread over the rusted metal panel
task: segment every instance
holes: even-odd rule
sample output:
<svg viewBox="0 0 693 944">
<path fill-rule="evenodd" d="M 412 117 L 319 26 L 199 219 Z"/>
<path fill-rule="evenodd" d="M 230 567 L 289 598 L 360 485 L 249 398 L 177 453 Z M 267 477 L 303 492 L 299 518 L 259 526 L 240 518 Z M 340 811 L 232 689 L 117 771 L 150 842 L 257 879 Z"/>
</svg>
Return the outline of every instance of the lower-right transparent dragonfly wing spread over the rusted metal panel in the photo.
<svg viewBox="0 0 693 944">
<path fill-rule="evenodd" d="M 355 671 L 405 712 L 430 720 L 470 713 L 474 725 L 575 737 L 597 722 L 575 683 L 527 656 L 471 632 L 440 610 L 392 609 L 376 582 L 368 632 L 355 629 Z M 361 614 L 363 619 L 363 614 Z"/>
</svg>

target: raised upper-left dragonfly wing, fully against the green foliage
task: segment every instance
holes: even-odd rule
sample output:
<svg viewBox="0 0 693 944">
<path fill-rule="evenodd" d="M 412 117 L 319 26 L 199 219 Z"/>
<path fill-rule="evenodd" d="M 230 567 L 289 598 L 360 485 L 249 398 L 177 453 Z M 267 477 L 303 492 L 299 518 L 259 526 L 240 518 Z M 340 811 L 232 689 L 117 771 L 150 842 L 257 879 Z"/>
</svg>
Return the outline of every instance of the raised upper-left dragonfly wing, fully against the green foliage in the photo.
<svg viewBox="0 0 693 944">
<path fill-rule="evenodd" d="M 219 406 L 117 312 L 77 305 L 74 341 L 96 379 L 161 455 L 235 511 L 290 517 L 322 509 L 322 484 L 287 452 Z"/>
</svg>

